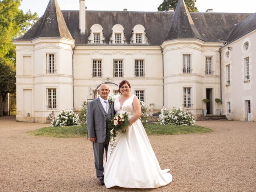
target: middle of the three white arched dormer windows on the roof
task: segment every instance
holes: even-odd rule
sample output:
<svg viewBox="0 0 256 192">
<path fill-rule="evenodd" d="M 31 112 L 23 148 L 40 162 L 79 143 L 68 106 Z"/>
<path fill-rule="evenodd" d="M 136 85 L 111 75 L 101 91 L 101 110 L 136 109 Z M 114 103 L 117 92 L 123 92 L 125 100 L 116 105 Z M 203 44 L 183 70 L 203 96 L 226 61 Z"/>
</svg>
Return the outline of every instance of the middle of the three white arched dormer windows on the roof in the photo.
<svg viewBox="0 0 256 192">
<path fill-rule="evenodd" d="M 110 44 L 124 44 L 126 38 L 124 36 L 124 27 L 120 24 L 116 24 L 112 27 L 112 34 L 110 37 Z"/>
</svg>

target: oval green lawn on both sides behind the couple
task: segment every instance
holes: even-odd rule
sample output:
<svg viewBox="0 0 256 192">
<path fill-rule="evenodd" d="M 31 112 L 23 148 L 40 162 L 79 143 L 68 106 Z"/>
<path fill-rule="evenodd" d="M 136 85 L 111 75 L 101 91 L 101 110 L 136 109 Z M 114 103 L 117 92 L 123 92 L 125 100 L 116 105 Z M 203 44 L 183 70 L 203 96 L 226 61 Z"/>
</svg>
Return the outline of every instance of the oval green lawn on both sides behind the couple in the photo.
<svg viewBox="0 0 256 192">
<path fill-rule="evenodd" d="M 174 126 L 158 124 L 148 124 L 146 125 L 145 130 L 148 135 L 176 135 L 212 132 L 211 129 L 200 126 Z M 82 127 L 81 125 L 66 127 L 45 127 L 31 131 L 29 134 L 47 137 L 86 137 L 87 128 Z"/>
</svg>

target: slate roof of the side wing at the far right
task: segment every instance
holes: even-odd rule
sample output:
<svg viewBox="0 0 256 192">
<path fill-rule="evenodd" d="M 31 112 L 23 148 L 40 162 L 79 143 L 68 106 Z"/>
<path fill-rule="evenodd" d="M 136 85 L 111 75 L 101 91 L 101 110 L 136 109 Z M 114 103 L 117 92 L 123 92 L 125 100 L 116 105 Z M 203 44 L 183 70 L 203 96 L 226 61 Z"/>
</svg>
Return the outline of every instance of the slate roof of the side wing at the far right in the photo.
<svg viewBox="0 0 256 192">
<path fill-rule="evenodd" d="M 256 30 L 256 13 L 237 24 L 230 32 L 227 41 L 230 43 L 253 30 Z"/>
</svg>

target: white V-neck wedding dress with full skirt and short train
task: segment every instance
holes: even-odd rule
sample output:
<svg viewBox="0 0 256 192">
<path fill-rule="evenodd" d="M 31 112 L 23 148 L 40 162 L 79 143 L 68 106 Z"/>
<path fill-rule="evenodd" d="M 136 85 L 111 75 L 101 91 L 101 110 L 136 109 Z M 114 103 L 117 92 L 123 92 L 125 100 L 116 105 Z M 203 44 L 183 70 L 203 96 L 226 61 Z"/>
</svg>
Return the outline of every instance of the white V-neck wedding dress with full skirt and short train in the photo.
<svg viewBox="0 0 256 192">
<path fill-rule="evenodd" d="M 135 95 L 121 106 L 119 98 L 114 102 L 117 114 L 127 112 L 129 119 L 135 114 L 132 102 Z M 110 143 L 111 144 L 111 143 Z M 156 155 L 150 145 L 145 129 L 138 119 L 125 133 L 116 136 L 116 147 L 104 162 L 104 183 L 106 188 L 158 188 L 172 181 L 170 169 L 161 170 Z"/>
</svg>

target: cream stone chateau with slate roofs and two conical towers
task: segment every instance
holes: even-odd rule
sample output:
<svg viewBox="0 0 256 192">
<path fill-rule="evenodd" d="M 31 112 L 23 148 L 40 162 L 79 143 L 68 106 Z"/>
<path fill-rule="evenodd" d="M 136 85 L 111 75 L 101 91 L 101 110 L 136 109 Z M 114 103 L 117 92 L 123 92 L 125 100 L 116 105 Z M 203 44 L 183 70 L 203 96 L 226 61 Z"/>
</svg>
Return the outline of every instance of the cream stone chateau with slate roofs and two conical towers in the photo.
<svg viewBox="0 0 256 192">
<path fill-rule="evenodd" d="M 79 11 L 62 11 L 50 0 L 13 40 L 16 120 L 78 112 L 100 84 L 117 93 L 126 79 L 154 111 L 182 106 L 198 118 L 221 109 L 229 120 L 256 121 L 256 13 L 188 12 L 184 0 L 175 12 L 89 11 L 79 3 Z"/>
</svg>

